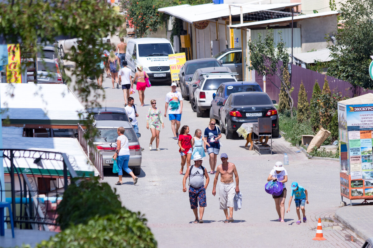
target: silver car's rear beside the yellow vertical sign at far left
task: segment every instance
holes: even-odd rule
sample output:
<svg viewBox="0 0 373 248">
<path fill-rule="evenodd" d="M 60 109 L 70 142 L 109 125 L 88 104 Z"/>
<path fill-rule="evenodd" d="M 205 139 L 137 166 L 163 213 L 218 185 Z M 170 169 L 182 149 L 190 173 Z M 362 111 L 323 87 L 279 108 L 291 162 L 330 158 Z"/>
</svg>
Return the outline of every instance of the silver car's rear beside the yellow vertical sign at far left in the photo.
<svg viewBox="0 0 373 248">
<path fill-rule="evenodd" d="M 33 59 L 27 59 L 32 62 Z M 62 84 L 62 74 L 58 63 L 54 59 L 38 58 L 37 59 L 37 83 L 38 84 Z M 28 67 L 32 67 L 30 64 Z M 27 80 L 33 80 L 33 72 L 27 72 Z"/>
</svg>

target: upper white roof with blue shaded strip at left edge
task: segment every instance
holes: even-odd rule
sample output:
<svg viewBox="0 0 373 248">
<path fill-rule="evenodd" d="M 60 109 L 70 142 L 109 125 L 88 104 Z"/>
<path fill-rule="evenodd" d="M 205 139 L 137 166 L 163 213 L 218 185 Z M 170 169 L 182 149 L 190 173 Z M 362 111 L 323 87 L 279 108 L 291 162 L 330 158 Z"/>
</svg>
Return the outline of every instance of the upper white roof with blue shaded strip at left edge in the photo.
<svg viewBox="0 0 373 248">
<path fill-rule="evenodd" d="M 0 84 L 0 99 L 1 117 L 11 125 L 77 128 L 88 114 L 65 84 Z"/>
</svg>

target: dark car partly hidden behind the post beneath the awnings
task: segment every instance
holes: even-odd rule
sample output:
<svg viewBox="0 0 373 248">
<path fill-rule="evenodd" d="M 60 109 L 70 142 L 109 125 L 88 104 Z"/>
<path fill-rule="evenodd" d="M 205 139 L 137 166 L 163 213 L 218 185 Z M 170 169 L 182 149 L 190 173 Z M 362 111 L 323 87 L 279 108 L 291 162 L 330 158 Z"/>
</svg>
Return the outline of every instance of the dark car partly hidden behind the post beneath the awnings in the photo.
<svg viewBox="0 0 373 248">
<path fill-rule="evenodd" d="M 215 54 L 213 58 L 216 58 L 220 64 L 231 69 L 232 73 L 237 73 L 237 80 L 242 80 L 242 49 L 241 48 L 230 48 L 225 51 Z"/>
</svg>

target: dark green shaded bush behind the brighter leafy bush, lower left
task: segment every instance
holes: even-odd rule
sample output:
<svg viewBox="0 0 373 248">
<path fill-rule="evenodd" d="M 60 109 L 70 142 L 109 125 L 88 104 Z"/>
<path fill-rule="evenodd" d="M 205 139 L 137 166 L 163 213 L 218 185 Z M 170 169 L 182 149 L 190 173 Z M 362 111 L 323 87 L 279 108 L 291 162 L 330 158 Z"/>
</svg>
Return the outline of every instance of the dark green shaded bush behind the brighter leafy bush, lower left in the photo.
<svg viewBox="0 0 373 248">
<path fill-rule="evenodd" d="M 121 208 L 119 196 L 109 184 L 100 183 L 98 177 L 82 180 L 79 186 L 71 183 L 63 193 L 62 202 L 57 208 L 57 223 L 63 230 L 70 225 L 87 223 L 96 215 L 117 214 Z"/>
</svg>

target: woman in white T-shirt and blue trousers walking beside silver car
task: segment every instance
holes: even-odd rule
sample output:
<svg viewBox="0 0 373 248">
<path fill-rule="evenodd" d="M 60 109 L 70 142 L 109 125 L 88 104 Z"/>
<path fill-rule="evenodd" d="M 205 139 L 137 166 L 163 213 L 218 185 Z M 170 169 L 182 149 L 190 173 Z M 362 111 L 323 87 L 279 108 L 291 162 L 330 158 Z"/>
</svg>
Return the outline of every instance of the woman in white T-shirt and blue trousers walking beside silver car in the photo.
<svg viewBox="0 0 373 248">
<path fill-rule="evenodd" d="M 128 173 L 134 180 L 134 185 L 137 183 L 137 180 L 139 179 L 135 174 L 132 172 L 130 168 L 128 168 L 128 161 L 129 161 L 129 147 L 128 147 L 128 138 L 124 135 L 125 129 L 121 126 L 117 129 L 118 138 L 117 138 L 117 149 L 115 151 L 115 154 L 113 156 L 113 160 L 117 160 L 118 164 L 118 176 L 119 181 L 117 181 L 116 185 L 122 184 L 122 175 L 123 170 L 125 170 L 126 173 Z"/>
</svg>

